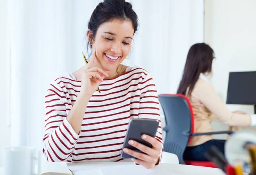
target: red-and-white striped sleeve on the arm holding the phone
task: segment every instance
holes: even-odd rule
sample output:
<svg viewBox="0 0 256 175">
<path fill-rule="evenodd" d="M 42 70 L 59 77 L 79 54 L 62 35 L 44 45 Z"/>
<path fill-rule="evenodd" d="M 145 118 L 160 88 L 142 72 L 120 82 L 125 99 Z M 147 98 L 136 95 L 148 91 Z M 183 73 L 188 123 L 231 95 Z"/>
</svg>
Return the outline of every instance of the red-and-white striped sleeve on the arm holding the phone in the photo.
<svg viewBox="0 0 256 175">
<path fill-rule="evenodd" d="M 161 161 L 163 153 L 163 139 L 161 120 L 159 114 L 159 101 L 157 90 L 155 88 L 155 83 L 148 72 L 144 80 L 141 82 L 139 118 L 152 118 L 160 121 L 155 138 L 162 146 L 162 150 L 160 151 L 159 157 L 159 160 Z"/>
</svg>

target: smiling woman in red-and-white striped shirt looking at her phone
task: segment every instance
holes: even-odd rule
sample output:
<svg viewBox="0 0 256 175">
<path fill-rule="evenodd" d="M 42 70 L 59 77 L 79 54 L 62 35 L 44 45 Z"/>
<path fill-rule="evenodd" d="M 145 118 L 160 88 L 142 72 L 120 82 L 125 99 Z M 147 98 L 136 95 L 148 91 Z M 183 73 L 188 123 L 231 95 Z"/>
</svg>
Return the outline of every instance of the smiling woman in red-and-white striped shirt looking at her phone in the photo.
<svg viewBox="0 0 256 175">
<path fill-rule="evenodd" d="M 121 161 L 131 118 L 159 118 L 157 91 L 150 74 L 122 65 L 137 31 L 137 15 L 124 0 L 104 0 L 88 23 L 93 50 L 87 65 L 58 77 L 45 96 L 43 154 L 52 162 Z M 97 88 L 101 90 L 98 93 Z M 161 160 L 161 124 L 155 138 L 143 135 L 153 147 L 134 140 L 125 148 L 136 164 L 152 168 Z"/>
</svg>

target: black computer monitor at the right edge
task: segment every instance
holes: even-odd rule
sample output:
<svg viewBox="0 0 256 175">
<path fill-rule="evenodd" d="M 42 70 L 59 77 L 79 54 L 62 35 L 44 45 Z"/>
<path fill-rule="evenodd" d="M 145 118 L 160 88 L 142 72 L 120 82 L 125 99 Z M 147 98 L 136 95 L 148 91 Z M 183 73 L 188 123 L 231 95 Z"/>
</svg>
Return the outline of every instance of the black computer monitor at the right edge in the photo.
<svg viewBox="0 0 256 175">
<path fill-rule="evenodd" d="M 256 114 L 256 71 L 229 72 L 227 104 L 254 105 Z"/>
</svg>

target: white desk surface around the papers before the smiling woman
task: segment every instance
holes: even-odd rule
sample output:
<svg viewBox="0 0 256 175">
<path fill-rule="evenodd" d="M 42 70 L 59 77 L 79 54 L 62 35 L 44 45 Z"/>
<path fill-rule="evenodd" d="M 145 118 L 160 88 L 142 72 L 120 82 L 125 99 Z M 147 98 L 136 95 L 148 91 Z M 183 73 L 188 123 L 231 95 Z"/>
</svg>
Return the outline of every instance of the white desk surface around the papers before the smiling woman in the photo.
<svg viewBox="0 0 256 175">
<path fill-rule="evenodd" d="M 133 162 L 77 162 L 67 163 L 68 168 L 73 172 L 90 170 L 101 166 L 117 166 L 117 165 L 134 165 Z M 136 165 L 134 165 L 136 166 Z M 181 175 L 225 175 L 219 168 L 209 168 L 203 166 L 192 166 L 182 164 L 159 164 L 160 167 L 168 170 L 171 173 Z M 120 175 L 120 174 L 119 174 Z"/>
</svg>

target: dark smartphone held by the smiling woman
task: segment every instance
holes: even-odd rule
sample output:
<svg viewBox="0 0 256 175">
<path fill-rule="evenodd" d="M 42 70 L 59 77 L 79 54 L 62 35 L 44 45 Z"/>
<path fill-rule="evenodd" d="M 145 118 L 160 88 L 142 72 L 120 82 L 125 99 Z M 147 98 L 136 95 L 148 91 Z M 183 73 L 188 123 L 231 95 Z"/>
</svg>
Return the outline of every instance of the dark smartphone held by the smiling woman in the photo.
<svg viewBox="0 0 256 175">
<path fill-rule="evenodd" d="M 128 124 L 126 136 L 124 138 L 124 145 L 123 145 L 123 149 L 121 152 L 121 157 L 125 158 L 125 159 L 135 158 L 135 157 L 125 153 L 123 151 L 124 148 L 128 148 L 128 149 L 132 149 L 132 150 L 141 152 L 137 148 L 132 147 L 132 145 L 130 145 L 128 143 L 128 141 L 131 139 L 151 148 L 152 145 L 149 142 L 143 140 L 141 138 L 141 135 L 146 134 L 148 136 L 155 137 L 155 134 L 157 133 L 158 125 L 159 125 L 159 120 L 157 120 L 157 119 L 148 119 L 148 118 L 131 119 Z"/>
</svg>

